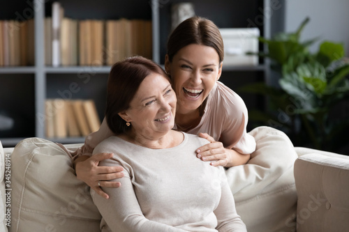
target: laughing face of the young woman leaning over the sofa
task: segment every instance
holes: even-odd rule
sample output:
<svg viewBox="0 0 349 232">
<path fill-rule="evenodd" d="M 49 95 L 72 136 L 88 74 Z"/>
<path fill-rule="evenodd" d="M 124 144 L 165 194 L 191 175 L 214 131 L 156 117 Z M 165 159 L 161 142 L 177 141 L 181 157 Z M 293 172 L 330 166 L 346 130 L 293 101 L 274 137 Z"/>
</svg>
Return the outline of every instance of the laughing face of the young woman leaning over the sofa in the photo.
<svg viewBox="0 0 349 232">
<path fill-rule="evenodd" d="M 221 77 L 221 63 L 213 47 L 187 45 L 173 56 L 166 55 L 165 70 L 177 94 L 177 112 L 185 114 L 198 109 Z"/>
</svg>

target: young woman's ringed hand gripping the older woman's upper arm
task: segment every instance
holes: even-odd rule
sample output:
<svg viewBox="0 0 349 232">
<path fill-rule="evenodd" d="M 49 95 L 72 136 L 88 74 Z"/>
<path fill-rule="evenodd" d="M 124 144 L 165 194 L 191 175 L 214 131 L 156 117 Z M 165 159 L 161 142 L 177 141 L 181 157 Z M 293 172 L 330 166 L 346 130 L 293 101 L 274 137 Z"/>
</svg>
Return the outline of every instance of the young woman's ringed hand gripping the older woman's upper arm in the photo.
<svg viewBox="0 0 349 232">
<path fill-rule="evenodd" d="M 89 187 L 97 192 L 97 194 L 108 199 L 109 196 L 103 192 L 101 187 L 120 187 L 121 183 L 109 181 L 122 178 L 124 173 L 123 167 L 99 167 L 98 164 L 102 160 L 112 158 L 112 153 L 99 153 L 96 155 L 80 156 L 75 160 L 75 173 L 79 180 L 84 181 Z"/>
</svg>

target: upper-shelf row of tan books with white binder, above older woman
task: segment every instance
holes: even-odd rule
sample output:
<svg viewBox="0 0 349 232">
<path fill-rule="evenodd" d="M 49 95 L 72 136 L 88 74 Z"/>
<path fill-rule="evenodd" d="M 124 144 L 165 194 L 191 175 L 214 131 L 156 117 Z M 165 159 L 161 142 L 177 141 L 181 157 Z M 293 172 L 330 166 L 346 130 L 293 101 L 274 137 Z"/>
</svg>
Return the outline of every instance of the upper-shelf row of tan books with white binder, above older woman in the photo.
<svg viewBox="0 0 349 232">
<path fill-rule="evenodd" d="M 151 21 L 74 20 L 59 2 L 45 18 L 45 64 L 112 65 L 128 56 L 151 59 Z"/>
</svg>

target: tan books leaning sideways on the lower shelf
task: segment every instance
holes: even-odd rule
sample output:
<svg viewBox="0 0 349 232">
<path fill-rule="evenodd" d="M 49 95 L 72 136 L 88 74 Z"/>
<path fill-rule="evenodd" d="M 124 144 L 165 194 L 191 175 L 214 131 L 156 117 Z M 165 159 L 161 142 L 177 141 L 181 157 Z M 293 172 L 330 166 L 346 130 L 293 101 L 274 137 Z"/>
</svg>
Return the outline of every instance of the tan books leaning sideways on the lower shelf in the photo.
<svg viewBox="0 0 349 232">
<path fill-rule="evenodd" d="M 87 136 L 101 125 L 94 100 L 47 99 L 45 115 L 47 138 Z"/>
</svg>

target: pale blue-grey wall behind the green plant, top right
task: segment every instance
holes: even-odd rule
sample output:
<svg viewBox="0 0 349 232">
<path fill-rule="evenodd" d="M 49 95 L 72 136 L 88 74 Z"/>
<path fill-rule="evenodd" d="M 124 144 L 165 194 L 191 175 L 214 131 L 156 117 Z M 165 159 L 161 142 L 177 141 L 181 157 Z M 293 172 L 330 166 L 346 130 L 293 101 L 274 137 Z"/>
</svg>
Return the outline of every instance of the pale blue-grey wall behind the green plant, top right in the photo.
<svg viewBox="0 0 349 232">
<path fill-rule="evenodd" d="M 307 17 L 301 40 L 320 37 L 320 40 L 310 47 L 312 52 L 318 51 L 318 45 L 323 40 L 342 42 L 349 56 L 349 0 L 286 0 L 285 1 L 285 31 L 295 31 Z"/>
</svg>

